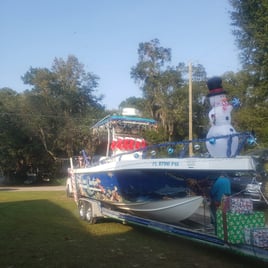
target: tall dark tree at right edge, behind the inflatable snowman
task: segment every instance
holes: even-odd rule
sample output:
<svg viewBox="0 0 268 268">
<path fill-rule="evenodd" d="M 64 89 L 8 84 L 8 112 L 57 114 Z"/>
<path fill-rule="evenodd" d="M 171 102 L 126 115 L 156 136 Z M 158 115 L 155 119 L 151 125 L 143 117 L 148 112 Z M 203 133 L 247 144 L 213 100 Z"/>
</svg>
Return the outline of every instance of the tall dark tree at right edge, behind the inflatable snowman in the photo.
<svg viewBox="0 0 268 268">
<path fill-rule="evenodd" d="M 244 124 L 268 144 L 268 2 L 230 0 L 233 33 L 240 49 L 244 81 Z M 241 73 L 238 74 L 241 77 Z M 257 116 L 256 116 L 257 115 Z M 257 117 L 257 118 L 256 118 Z"/>
</svg>

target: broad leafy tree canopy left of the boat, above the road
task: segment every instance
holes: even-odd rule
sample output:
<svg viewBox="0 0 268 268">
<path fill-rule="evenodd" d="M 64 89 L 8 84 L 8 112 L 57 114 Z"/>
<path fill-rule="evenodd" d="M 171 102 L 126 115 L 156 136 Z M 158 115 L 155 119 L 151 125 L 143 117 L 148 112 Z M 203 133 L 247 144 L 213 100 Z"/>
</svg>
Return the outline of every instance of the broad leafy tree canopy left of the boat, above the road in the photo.
<svg viewBox="0 0 268 268">
<path fill-rule="evenodd" d="M 0 163 L 5 173 L 20 174 L 26 165 L 51 168 L 83 148 L 93 150 L 89 127 L 105 113 L 102 96 L 95 95 L 98 77 L 69 56 L 66 61 L 56 58 L 51 69 L 31 67 L 22 79 L 31 90 L 0 91 L 0 124 L 5 124 L 1 140 L 6 140 L 0 146 L 7 151 Z M 7 166 L 5 159 L 13 164 Z"/>
</svg>

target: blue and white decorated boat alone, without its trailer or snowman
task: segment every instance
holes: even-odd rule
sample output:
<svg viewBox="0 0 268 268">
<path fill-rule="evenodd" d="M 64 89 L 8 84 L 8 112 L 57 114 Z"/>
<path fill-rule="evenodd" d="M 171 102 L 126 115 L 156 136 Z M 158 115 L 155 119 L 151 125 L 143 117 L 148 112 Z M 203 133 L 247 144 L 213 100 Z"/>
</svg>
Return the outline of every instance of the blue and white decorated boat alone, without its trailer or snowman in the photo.
<svg viewBox="0 0 268 268">
<path fill-rule="evenodd" d="M 149 145 L 145 130 L 157 129 L 153 119 L 143 118 L 135 109 L 110 115 L 93 127 L 105 154 L 89 158 L 85 151 L 71 158 L 70 178 L 75 200 L 90 198 L 105 207 L 128 211 L 166 223 L 189 218 L 208 197 L 208 187 L 221 173 L 255 173 L 249 156 L 189 157 L 189 141 Z M 229 139 L 245 143 L 250 133 L 235 133 Z M 216 139 L 226 138 L 217 137 Z M 193 140 L 197 147 L 204 140 Z M 236 154 L 239 154 L 238 147 Z M 227 148 L 228 150 L 228 148 Z M 204 187 L 200 187 L 205 183 Z"/>
</svg>

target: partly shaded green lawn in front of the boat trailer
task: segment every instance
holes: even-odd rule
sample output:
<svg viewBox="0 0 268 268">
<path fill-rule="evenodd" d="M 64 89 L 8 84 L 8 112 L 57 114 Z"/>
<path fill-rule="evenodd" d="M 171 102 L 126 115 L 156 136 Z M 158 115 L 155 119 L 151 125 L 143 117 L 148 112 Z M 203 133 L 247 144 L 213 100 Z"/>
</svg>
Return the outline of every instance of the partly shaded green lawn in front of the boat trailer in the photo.
<svg viewBox="0 0 268 268">
<path fill-rule="evenodd" d="M 62 192 L 0 192 L 0 267 L 267 267 L 146 228 L 79 219 Z"/>
</svg>

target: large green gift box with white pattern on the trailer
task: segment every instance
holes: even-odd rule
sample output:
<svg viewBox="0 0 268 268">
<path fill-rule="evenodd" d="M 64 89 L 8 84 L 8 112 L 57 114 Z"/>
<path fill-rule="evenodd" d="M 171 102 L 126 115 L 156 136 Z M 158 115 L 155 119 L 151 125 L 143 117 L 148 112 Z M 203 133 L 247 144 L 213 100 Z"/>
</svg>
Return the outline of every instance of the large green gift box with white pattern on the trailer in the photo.
<svg viewBox="0 0 268 268">
<path fill-rule="evenodd" d="M 216 221 L 217 236 L 232 244 L 245 243 L 245 228 L 265 226 L 265 216 L 260 211 L 240 214 L 218 210 Z"/>
</svg>

